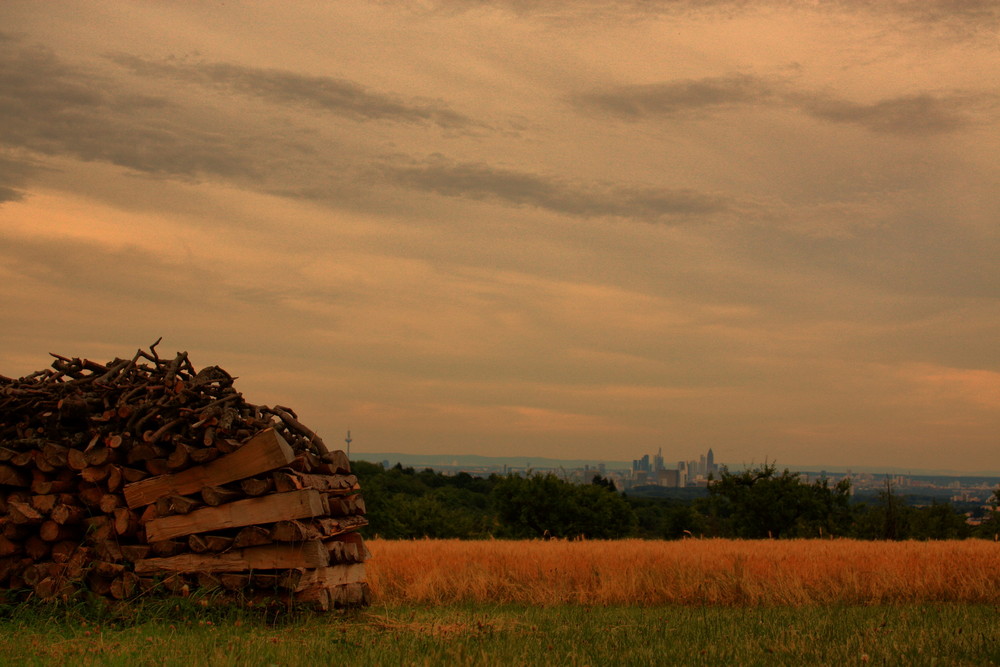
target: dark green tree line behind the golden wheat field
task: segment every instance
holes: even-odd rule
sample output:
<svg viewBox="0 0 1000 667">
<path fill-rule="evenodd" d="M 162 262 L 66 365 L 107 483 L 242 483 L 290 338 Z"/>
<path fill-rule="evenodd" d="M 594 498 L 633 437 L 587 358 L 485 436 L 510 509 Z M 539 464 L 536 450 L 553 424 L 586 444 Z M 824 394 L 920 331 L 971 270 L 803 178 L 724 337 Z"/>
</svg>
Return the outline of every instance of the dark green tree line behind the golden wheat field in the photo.
<svg viewBox="0 0 1000 667">
<path fill-rule="evenodd" d="M 978 526 L 950 503 L 914 506 L 886 482 L 870 502 L 848 480 L 804 482 L 775 465 L 712 479 L 693 500 L 630 497 L 595 476 L 573 484 L 552 473 L 475 477 L 430 468 L 352 462 L 368 509 L 368 536 L 387 539 L 680 539 L 683 537 L 937 540 L 995 539 L 1000 488 Z"/>
</svg>

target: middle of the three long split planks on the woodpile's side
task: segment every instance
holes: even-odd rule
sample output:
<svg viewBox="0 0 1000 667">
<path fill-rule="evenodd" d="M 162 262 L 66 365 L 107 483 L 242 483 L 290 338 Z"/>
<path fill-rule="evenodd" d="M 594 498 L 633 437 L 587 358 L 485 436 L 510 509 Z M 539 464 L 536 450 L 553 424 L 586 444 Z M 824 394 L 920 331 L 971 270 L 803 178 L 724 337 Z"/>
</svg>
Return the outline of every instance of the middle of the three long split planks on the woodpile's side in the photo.
<svg viewBox="0 0 1000 667">
<path fill-rule="evenodd" d="M 190 514 L 165 516 L 147 522 L 146 539 L 159 542 L 191 533 L 323 516 L 329 512 L 325 500 L 315 489 L 302 489 L 237 500 L 218 507 L 204 507 Z"/>
</svg>

